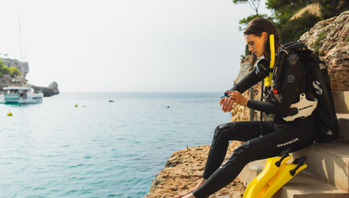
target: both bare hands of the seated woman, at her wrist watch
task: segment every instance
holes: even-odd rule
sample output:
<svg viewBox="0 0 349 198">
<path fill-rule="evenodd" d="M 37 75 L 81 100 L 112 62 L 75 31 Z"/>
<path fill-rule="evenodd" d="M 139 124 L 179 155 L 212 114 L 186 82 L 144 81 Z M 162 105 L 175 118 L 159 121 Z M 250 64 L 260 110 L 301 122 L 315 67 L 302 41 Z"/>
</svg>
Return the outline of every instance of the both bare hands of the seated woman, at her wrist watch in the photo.
<svg viewBox="0 0 349 198">
<path fill-rule="evenodd" d="M 239 91 L 225 91 L 225 93 L 230 93 L 230 98 L 221 98 L 220 105 L 223 112 L 230 112 L 234 102 L 245 107 L 247 106 L 247 99 Z"/>
</svg>

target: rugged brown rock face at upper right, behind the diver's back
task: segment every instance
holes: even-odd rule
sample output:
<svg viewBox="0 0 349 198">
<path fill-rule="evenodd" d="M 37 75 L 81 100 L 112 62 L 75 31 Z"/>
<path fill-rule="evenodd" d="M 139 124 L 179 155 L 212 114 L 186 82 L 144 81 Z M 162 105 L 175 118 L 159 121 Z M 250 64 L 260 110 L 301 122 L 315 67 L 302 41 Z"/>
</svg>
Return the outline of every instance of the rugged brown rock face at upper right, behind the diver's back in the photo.
<svg viewBox="0 0 349 198">
<path fill-rule="evenodd" d="M 300 39 L 325 61 L 332 91 L 349 91 L 349 10 L 318 22 Z"/>
</svg>

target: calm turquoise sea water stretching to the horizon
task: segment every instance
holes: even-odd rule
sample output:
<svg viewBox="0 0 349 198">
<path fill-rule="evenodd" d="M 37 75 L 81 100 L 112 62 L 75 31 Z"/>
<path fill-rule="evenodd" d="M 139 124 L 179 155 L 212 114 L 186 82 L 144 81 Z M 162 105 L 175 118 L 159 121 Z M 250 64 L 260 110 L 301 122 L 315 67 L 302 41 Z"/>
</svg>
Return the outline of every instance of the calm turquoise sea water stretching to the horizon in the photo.
<svg viewBox="0 0 349 198">
<path fill-rule="evenodd" d="M 61 93 L 0 105 L 0 197 L 144 197 L 172 152 L 211 144 L 230 121 L 220 96 Z"/>
</svg>

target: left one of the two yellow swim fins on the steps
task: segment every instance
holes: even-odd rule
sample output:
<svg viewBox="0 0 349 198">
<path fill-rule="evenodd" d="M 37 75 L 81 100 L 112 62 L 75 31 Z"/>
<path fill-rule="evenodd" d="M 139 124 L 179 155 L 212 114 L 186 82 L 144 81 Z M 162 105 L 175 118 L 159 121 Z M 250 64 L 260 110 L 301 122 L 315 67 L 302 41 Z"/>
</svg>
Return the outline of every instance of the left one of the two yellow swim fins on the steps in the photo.
<svg viewBox="0 0 349 198">
<path fill-rule="evenodd" d="M 262 172 L 260 172 L 253 181 L 248 183 L 243 198 L 257 197 L 263 186 L 283 167 L 283 164 L 292 157 L 289 155 L 290 152 L 291 149 L 287 148 L 285 151 L 282 151 L 278 157 L 268 158 Z"/>
</svg>

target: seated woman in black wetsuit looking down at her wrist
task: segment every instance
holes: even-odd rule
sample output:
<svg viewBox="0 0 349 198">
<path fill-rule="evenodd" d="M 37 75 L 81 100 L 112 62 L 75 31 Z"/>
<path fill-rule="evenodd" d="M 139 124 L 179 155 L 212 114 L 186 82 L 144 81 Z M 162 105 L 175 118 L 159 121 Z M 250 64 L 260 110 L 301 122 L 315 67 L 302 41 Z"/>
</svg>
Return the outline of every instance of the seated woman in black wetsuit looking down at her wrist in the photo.
<svg viewBox="0 0 349 198">
<path fill-rule="evenodd" d="M 274 34 L 275 49 L 279 47 L 279 36 L 271 22 L 263 18 L 256 18 L 248 23 L 244 37 L 248 50 L 260 57 L 265 56 L 265 63 L 269 63 L 269 35 Z M 233 103 L 256 109 L 267 114 L 274 114 L 274 121 L 239 121 L 218 125 L 214 131 L 211 148 L 206 162 L 205 171 L 198 185 L 192 190 L 176 195 L 176 198 L 209 197 L 225 185 L 233 181 L 248 162 L 272 158 L 285 148 L 292 152 L 310 146 L 315 140 L 315 116 L 294 121 L 285 121 L 283 117 L 290 114 L 290 105 L 299 101 L 300 91 L 303 90 L 305 80 L 302 61 L 297 54 L 290 54 L 285 61 L 280 79 L 279 102 L 262 102 L 244 98 L 242 93 L 254 84 L 260 82 L 264 76 L 253 68 L 244 79 L 237 83 L 229 93 L 229 98 L 221 98 L 223 112 L 230 112 Z M 263 134 L 260 134 L 262 128 Z M 237 146 L 223 165 L 230 140 L 243 141 Z"/>
</svg>

